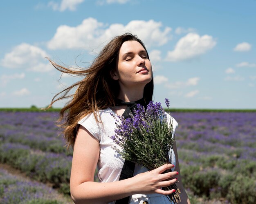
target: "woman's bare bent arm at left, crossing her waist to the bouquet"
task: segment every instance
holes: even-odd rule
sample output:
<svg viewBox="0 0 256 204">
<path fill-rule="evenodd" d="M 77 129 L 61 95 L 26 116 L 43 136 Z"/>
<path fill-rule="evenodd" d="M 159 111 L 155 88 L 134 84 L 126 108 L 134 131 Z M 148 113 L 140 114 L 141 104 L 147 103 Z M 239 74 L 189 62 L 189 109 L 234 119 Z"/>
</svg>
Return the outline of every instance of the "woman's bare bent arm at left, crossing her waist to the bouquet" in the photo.
<svg viewBox="0 0 256 204">
<path fill-rule="evenodd" d="M 169 186 L 176 182 L 176 179 L 168 179 L 175 177 L 177 171 L 161 174 L 166 169 L 173 168 L 171 164 L 121 181 L 94 182 L 99 150 L 99 140 L 80 125 L 74 144 L 70 178 L 71 197 L 75 203 L 104 204 L 137 193 L 160 193 L 163 195 L 173 193 L 173 190 L 161 189 L 163 186 Z"/>
</svg>

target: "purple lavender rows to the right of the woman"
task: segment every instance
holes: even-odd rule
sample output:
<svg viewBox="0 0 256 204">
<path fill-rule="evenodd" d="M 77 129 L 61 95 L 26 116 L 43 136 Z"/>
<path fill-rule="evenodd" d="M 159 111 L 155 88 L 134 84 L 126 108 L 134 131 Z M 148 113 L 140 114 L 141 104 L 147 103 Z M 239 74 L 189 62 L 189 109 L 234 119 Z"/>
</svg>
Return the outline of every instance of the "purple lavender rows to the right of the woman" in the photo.
<svg viewBox="0 0 256 204">
<path fill-rule="evenodd" d="M 256 203 L 256 113 L 172 115 L 185 188 L 212 200 Z"/>
</svg>

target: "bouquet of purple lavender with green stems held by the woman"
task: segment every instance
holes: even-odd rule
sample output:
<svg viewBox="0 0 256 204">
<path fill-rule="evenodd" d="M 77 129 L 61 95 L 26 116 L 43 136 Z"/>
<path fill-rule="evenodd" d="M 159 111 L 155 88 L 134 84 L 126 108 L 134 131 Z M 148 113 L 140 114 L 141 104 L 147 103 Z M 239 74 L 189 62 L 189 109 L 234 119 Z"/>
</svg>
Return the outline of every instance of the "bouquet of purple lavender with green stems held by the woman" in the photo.
<svg viewBox="0 0 256 204">
<path fill-rule="evenodd" d="M 169 108 L 169 101 L 165 99 Z M 164 164 L 171 163 L 174 139 L 172 118 L 169 120 L 161 103 L 150 103 L 145 110 L 144 106 L 137 104 L 135 115 L 125 119 L 123 116 L 112 116 L 116 119 L 117 128 L 112 140 L 122 147 L 115 150 L 125 160 L 138 163 L 148 170 L 156 169 Z M 166 172 L 170 172 L 171 169 Z M 174 203 L 180 202 L 180 190 L 176 184 L 163 187 L 164 190 L 175 189 L 168 195 Z"/>
</svg>

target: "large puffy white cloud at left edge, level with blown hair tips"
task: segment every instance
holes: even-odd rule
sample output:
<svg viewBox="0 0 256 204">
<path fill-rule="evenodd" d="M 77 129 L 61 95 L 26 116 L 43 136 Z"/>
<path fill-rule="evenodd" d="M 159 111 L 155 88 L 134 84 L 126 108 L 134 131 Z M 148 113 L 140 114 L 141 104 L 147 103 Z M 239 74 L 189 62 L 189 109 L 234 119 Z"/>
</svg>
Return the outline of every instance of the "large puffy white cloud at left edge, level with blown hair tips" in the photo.
<svg viewBox="0 0 256 204">
<path fill-rule="evenodd" d="M 53 66 L 45 63 L 45 57 L 48 56 L 41 48 L 22 43 L 4 55 L 1 65 L 7 68 L 23 68 L 35 72 L 49 72 L 53 70 Z"/>
</svg>

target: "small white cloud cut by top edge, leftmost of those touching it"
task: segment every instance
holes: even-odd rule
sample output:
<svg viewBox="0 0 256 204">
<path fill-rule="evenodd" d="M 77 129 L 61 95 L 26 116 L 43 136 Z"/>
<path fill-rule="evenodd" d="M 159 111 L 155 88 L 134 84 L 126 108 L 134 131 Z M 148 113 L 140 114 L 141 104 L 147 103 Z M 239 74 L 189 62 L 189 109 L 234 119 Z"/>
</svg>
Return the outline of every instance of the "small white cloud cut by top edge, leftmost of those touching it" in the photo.
<svg viewBox="0 0 256 204">
<path fill-rule="evenodd" d="M 57 3 L 54 1 L 50 1 L 48 3 L 48 7 L 52 7 L 54 11 L 65 11 L 65 10 L 70 10 L 70 11 L 76 11 L 76 7 L 78 4 L 83 3 L 84 0 L 62 0 L 61 3 Z"/>
</svg>

